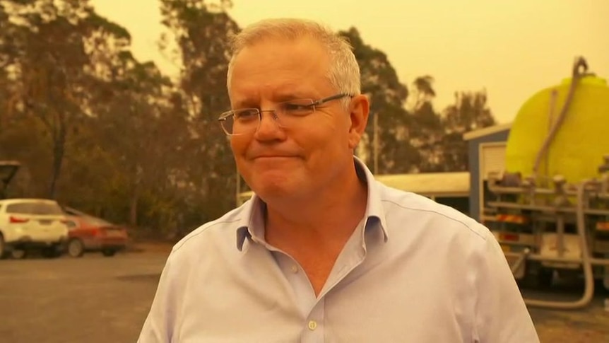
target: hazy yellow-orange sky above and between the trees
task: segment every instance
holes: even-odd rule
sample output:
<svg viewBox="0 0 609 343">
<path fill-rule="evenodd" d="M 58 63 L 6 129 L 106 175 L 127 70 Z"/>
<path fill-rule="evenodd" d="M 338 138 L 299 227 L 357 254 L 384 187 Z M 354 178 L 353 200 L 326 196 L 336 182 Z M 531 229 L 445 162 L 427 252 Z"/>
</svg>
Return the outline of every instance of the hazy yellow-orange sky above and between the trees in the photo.
<svg viewBox="0 0 609 343">
<path fill-rule="evenodd" d="M 174 65 L 157 48 L 156 0 L 92 0 L 98 13 L 126 27 L 134 54 L 167 74 Z M 609 0 L 233 0 L 240 26 L 268 17 L 323 21 L 360 30 L 384 51 L 403 83 L 430 74 L 437 109 L 455 91 L 486 88 L 499 122 L 513 119 L 536 91 L 559 83 L 583 55 L 609 79 Z"/>
</svg>

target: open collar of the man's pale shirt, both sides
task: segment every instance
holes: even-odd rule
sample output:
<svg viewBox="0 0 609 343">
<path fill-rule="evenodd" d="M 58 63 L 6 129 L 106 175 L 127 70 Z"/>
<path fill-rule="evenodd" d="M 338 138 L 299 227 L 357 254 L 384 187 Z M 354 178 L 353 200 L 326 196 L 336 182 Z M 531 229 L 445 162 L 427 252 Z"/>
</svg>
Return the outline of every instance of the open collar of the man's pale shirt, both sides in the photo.
<svg viewBox="0 0 609 343">
<path fill-rule="evenodd" d="M 383 233 L 384 242 L 389 238 L 379 182 L 374 175 L 357 156 L 353 156 L 355 171 L 360 180 L 367 184 L 368 199 L 366 205 L 365 219 L 366 231 L 372 226 L 378 225 Z M 243 250 L 245 240 L 264 242 L 264 211 L 266 204 L 255 193 L 243 205 L 240 221 L 237 222 L 237 249 Z M 371 220 L 372 219 L 372 220 Z"/>
</svg>

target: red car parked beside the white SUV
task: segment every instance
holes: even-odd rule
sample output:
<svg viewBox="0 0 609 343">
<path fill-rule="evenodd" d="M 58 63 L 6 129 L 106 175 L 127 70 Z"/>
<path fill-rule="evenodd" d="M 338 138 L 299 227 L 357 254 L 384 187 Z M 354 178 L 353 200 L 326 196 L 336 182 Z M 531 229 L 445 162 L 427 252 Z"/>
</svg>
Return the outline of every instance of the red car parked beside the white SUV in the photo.
<svg viewBox="0 0 609 343">
<path fill-rule="evenodd" d="M 64 211 L 69 228 L 66 250 L 71 257 L 81 257 L 85 252 L 102 252 L 110 257 L 126 248 L 129 236 L 124 227 L 70 207 L 64 207 Z"/>
</svg>

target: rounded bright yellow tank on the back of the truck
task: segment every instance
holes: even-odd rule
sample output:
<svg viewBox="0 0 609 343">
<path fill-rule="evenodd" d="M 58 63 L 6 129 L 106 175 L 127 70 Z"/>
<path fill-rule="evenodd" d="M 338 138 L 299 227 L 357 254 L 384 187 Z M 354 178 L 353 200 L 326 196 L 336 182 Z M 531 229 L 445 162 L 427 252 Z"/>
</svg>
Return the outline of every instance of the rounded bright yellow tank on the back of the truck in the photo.
<svg viewBox="0 0 609 343">
<path fill-rule="evenodd" d="M 533 166 L 550 129 L 567 100 L 572 79 L 539 91 L 520 108 L 512 123 L 506 149 L 506 171 L 533 175 Z M 609 154 L 609 86 L 605 79 L 579 79 L 564 122 L 538 165 L 537 181 L 554 175 L 567 182 L 599 176 L 603 156 Z"/>
</svg>

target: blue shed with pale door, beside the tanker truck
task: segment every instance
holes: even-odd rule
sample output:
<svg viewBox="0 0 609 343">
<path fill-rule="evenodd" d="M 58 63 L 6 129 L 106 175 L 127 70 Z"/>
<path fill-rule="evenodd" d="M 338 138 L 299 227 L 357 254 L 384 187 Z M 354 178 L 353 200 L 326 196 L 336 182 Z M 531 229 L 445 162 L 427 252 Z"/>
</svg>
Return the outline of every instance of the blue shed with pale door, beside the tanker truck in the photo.
<svg viewBox="0 0 609 343">
<path fill-rule="evenodd" d="M 463 134 L 468 142 L 470 172 L 470 215 L 481 222 L 485 221 L 485 203 L 491 197 L 487 189 L 487 175 L 490 172 L 503 172 L 505 168 L 505 147 L 512 123 L 485 127 Z"/>
</svg>

